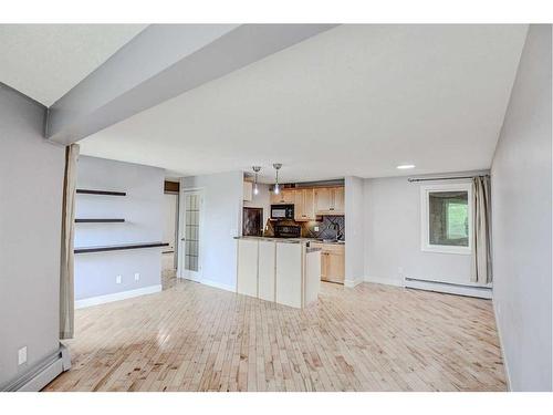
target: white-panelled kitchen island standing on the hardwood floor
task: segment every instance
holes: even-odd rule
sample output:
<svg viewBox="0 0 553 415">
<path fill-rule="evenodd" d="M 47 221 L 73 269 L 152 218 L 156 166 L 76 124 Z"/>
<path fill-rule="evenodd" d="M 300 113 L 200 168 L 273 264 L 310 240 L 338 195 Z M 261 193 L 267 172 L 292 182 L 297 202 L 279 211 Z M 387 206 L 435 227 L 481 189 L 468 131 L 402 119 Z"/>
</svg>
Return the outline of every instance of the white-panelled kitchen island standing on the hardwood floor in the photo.
<svg viewBox="0 0 553 415">
<path fill-rule="evenodd" d="M 305 239 L 239 237 L 237 292 L 294 308 L 316 301 L 321 249 Z"/>
</svg>

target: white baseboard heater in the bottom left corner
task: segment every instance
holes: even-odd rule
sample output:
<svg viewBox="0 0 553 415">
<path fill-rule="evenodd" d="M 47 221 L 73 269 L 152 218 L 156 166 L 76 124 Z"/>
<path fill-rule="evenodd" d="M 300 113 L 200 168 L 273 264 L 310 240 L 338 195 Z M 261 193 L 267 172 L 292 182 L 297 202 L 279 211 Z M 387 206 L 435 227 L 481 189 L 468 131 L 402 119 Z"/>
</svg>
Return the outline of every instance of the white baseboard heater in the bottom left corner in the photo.
<svg viewBox="0 0 553 415">
<path fill-rule="evenodd" d="M 71 357 L 67 347 L 60 343 L 58 352 L 44 359 L 29 372 L 8 384 L 3 392 L 39 392 L 60 373 L 71 369 Z"/>
</svg>

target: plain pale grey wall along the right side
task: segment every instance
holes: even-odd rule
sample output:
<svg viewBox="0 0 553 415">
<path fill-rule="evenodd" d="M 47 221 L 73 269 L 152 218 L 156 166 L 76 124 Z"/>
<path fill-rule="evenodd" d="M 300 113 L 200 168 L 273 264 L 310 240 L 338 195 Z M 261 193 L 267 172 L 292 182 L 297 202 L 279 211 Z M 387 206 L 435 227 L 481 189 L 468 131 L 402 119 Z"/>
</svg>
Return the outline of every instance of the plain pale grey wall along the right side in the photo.
<svg viewBox="0 0 553 415">
<path fill-rule="evenodd" d="M 510 386 L 552 390 L 551 25 L 531 25 L 491 168 L 493 302 Z"/>
</svg>

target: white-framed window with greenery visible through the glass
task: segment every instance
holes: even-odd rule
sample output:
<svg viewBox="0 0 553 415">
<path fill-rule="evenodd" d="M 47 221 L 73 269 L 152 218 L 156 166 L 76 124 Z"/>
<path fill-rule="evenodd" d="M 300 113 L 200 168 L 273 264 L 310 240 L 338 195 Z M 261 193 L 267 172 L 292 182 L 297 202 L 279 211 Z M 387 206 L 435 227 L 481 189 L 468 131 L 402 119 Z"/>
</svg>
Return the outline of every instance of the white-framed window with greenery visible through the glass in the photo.
<svg viewBox="0 0 553 415">
<path fill-rule="evenodd" d="M 421 186 L 421 249 L 471 252 L 472 185 Z"/>
</svg>

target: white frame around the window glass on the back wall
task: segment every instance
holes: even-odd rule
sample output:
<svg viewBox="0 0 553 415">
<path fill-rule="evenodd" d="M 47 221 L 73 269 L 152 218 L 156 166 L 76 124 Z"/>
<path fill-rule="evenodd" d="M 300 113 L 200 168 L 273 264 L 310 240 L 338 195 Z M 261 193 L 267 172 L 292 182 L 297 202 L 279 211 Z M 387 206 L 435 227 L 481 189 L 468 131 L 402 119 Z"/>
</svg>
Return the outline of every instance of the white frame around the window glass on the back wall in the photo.
<svg viewBox="0 0 553 415">
<path fill-rule="evenodd" d="M 468 247 L 451 245 L 430 243 L 430 222 L 429 222 L 429 200 L 432 191 L 467 191 L 467 207 L 469 216 L 469 240 Z M 452 183 L 447 185 L 422 185 L 420 186 L 420 249 L 426 252 L 471 255 L 472 238 L 474 232 L 473 225 L 473 199 L 472 183 Z"/>
</svg>

